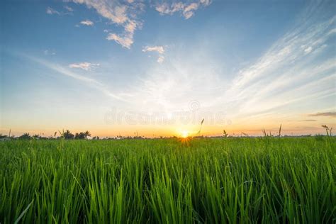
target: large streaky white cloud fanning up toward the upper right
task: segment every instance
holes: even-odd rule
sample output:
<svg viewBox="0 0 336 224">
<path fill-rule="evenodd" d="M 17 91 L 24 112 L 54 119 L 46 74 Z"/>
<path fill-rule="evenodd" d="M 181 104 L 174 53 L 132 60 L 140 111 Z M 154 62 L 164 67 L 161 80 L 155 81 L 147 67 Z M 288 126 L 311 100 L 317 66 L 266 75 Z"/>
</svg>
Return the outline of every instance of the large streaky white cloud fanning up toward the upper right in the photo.
<svg viewBox="0 0 336 224">
<path fill-rule="evenodd" d="M 312 9 L 313 15 L 308 13 Z M 336 16 L 322 17 L 322 13 L 323 4 L 304 10 L 298 23 L 257 62 L 242 69 L 225 94 L 213 103 L 230 99 L 239 104 L 240 112 L 261 113 L 335 95 L 331 82 L 335 80 L 335 60 L 323 59 L 323 53 L 332 37 Z"/>
</svg>

